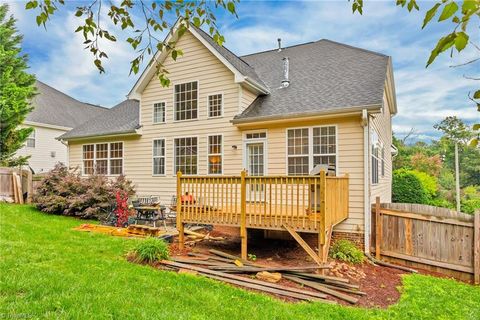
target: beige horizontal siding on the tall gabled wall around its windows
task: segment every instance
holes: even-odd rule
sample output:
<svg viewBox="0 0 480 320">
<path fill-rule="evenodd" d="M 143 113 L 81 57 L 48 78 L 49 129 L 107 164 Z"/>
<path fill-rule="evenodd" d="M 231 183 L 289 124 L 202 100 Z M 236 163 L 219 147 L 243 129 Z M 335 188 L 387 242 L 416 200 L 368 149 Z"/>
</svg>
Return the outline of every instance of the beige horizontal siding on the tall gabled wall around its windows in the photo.
<svg viewBox="0 0 480 320">
<path fill-rule="evenodd" d="M 207 137 L 223 135 L 223 174 L 240 174 L 242 165 L 242 133 L 230 123 L 238 114 L 240 86 L 234 82 L 233 73 L 228 70 L 200 41 L 186 32 L 177 42 L 184 55 L 174 62 L 168 57 L 165 68 L 170 72 L 168 88 L 160 85 L 153 77 L 141 96 L 140 119 L 142 136 L 138 139 L 123 140 L 125 150 L 124 172 L 137 188 L 139 195 L 159 195 L 163 203 L 169 203 L 175 193 L 174 139 L 176 137 L 198 138 L 198 174 L 207 174 Z M 198 81 L 198 120 L 174 121 L 175 84 Z M 223 116 L 208 118 L 208 95 L 223 94 Z M 153 123 L 153 105 L 166 104 L 166 123 Z M 152 143 L 154 139 L 165 139 L 165 176 L 153 176 Z M 105 140 L 107 141 L 107 140 Z M 235 150 L 232 146 L 237 146 Z M 79 143 L 71 146 L 71 164 L 81 164 Z"/>
</svg>

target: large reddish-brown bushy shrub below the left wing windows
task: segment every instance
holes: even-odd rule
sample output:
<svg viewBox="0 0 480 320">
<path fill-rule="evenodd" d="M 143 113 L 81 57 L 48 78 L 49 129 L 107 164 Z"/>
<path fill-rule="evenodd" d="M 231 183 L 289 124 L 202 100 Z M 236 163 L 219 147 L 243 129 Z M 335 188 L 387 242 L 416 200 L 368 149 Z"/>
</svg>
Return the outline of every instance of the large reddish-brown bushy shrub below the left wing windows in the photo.
<svg viewBox="0 0 480 320">
<path fill-rule="evenodd" d="M 100 219 L 116 204 L 117 192 L 124 198 L 135 194 L 124 176 L 108 179 L 102 175 L 81 177 L 78 169 L 57 164 L 40 183 L 34 196 L 38 209 L 51 214 Z"/>
</svg>

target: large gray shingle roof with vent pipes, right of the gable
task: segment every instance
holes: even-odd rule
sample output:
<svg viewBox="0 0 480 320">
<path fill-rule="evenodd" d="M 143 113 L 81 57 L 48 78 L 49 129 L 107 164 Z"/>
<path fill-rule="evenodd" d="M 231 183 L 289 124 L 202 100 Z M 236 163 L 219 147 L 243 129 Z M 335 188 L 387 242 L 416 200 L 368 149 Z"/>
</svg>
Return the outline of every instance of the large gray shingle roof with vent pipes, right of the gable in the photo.
<svg viewBox="0 0 480 320">
<path fill-rule="evenodd" d="M 280 89 L 283 57 L 290 60 L 290 86 Z M 257 98 L 236 121 L 382 104 L 389 63 L 383 54 L 319 40 L 242 59 L 255 68 L 270 94 Z"/>
</svg>

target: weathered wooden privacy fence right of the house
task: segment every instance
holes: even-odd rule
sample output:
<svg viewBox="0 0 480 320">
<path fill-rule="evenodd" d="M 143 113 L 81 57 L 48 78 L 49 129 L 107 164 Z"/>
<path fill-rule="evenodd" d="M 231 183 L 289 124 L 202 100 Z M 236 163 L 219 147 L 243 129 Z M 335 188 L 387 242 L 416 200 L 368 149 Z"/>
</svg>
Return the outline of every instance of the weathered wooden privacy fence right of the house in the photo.
<svg viewBox="0 0 480 320">
<path fill-rule="evenodd" d="M 480 213 L 378 198 L 374 213 L 378 259 L 480 283 Z"/>
</svg>

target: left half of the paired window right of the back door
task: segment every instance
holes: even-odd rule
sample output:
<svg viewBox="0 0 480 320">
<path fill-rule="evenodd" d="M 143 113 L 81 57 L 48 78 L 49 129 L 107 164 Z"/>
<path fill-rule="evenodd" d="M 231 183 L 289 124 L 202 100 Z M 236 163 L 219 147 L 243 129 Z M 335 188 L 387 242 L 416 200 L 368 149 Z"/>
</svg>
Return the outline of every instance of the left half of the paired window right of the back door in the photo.
<svg viewBox="0 0 480 320">
<path fill-rule="evenodd" d="M 306 175 L 309 172 L 308 128 L 291 129 L 287 133 L 288 174 Z"/>
</svg>

